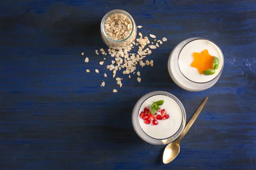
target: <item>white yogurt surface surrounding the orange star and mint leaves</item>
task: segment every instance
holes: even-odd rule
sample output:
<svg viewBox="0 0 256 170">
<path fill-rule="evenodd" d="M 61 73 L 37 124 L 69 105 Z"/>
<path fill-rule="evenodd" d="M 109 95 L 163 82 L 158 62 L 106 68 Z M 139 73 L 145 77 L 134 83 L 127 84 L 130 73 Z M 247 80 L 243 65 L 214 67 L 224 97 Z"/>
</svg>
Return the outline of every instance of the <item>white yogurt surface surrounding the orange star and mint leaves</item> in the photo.
<svg viewBox="0 0 256 170">
<path fill-rule="evenodd" d="M 212 75 L 204 75 L 200 74 L 195 67 L 191 67 L 191 63 L 194 60 L 193 53 L 201 53 L 207 49 L 211 56 L 218 57 L 220 64 L 219 68 L 215 70 L 215 74 Z M 178 64 L 180 67 L 181 73 L 193 82 L 209 82 L 210 80 L 214 79 L 221 71 L 221 67 L 223 65 L 222 53 L 217 45 L 208 41 L 208 40 L 193 40 L 186 44 L 183 49 L 180 51 Z"/>
</svg>

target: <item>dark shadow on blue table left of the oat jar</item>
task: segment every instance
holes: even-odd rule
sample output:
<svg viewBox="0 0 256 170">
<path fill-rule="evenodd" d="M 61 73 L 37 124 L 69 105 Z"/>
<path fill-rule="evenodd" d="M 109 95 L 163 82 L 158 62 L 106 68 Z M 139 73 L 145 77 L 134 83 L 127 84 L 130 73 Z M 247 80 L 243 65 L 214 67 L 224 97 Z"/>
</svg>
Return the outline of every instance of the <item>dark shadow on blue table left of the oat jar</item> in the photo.
<svg viewBox="0 0 256 170">
<path fill-rule="evenodd" d="M 64 17 L 52 24 L 49 34 L 64 46 L 92 46 L 104 47 L 100 36 L 101 18 Z"/>
</svg>

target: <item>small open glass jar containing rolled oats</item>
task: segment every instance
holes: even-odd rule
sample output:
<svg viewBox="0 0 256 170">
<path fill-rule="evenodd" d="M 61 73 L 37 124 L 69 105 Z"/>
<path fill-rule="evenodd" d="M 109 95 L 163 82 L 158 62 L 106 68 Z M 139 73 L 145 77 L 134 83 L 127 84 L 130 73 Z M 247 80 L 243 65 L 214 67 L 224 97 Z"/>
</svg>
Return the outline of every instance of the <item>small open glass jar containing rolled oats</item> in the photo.
<svg viewBox="0 0 256 170">
<path fill-rule="evenodd" d="M 131 33 L 128 35 L 128 37 L 126 37 L 123 40 L 113 40 L 106 34 L 105 27 L 104 27 L 105 22 L 107 21 L 108 17 L 110 17 L 113 14 L 122 14 L 122 15 L 128 17 L 128 20 L 131 22 Z M 131 17 L 131 15 L 128 12 L 120 10 L 120 9 L 115 9 L 115 10 L 109 11 L 103 17 L 102 22 L 101 22 L 101 37 L 102 37 L 102 40 L 105 42 L 105 44 L 108 45 L 108 47 L 113 48 L 113 49 L 125 48 L 135 40 L 136 35 L 137 35 L 136 23 L 134 22 L 134 19 Z"/>
</svg>

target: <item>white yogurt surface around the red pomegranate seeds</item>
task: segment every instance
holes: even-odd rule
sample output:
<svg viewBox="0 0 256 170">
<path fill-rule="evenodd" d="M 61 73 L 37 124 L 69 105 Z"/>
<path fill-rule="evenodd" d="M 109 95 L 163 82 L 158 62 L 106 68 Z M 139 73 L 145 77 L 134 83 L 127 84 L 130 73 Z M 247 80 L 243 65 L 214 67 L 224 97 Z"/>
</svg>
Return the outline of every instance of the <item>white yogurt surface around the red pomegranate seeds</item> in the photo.
<svg viewBox="0 0 256 170">
<path fill-rule="evenodd" d="M 160 108 L 166 110 L 166 114 L 169 114 L 169 119 L 157 120 L 158 125 L 153 125 L 152 121 L 147 125 L 143 122 L 143 119 L 139 117 L 139 114 L 144 111 L 145 107 L 151 108 L 153 102 L 158 100 L 164 100 L 164 104 L 161 105 Z M 157 114 L 161 115 L 161 113 Z M 166 95 L 155 95 L 149 97 L 143 102 L 138 113 L 138 119 L 140 127 L 148 136 L 155 139 L 166 139 L 173 136 L 179 130 L 182 124 L 182 111 L 180 105 L 172 99 L 172 97 Z"/>
</svg>

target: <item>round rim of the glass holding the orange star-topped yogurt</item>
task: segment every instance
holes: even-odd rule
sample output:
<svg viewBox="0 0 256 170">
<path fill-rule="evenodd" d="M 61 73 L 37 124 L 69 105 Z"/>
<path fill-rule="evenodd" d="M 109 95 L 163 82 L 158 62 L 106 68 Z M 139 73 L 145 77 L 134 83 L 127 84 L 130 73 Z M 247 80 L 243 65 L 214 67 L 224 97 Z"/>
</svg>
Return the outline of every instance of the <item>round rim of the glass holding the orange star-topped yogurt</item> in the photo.
<svg viewBox="0 0 256 170">
<path fill-rule="evenodd" d="M 195 39 L 193 39 L 193 40 L 190 40 L 189 42 L 186 42 L 186 44 L 180 49 L 180 52 L 179 52 L 179 54 L 178 54 L 178 68 L 179 68 L 179 70 L 180 70 L 179 58 L 180 58 L 180 53 L 181 53 L 181 51 L 183 50 L 183 48 L 184 48 L 186 45 L 188 45 L 190 42 L 195 41 L 195 40 L 207 40 L 207 41 L 209 41 L 209 42 L 212 42 L 212 43 L 215 44 L 215 45 L 218 47 L 218 49 L 221 51 L 221 48 L 220 48 L 215 42 L 213 42 L 212 40 L 208 40 L 208 39 L 206 39 L 206 38 L 195 38 Z M 187 78 L 187 77 L 182 73 L 181 70 L 180 70 L 180 73 L 181 73 L 186 79 L 188 79 L 190 82 L 194 82 L 194 83 L 197 83 L 197 84 L 205 84 L 205 83 L 208 83 L 208 82 L 212 82 L 213 80 L 215 80 L 217 77 L 219 77 L 219 76 L 221 75 L 221 72 L 222 72 L 222 70 L 223 70 L 223 67 L 224 67 L 224 55 L 223 55 L 222 51 L 221 51 L 221 57 L 222 57 L 221 71 L 218 73 L 217 76 L 215 76 L 213 79 L 211 79 L 211 80 L 209 80 L 209 81 L 207 81 L 207 82 L 195 82 L 195 81 L 192 81 L 191 79 Z"/>
</svg>

